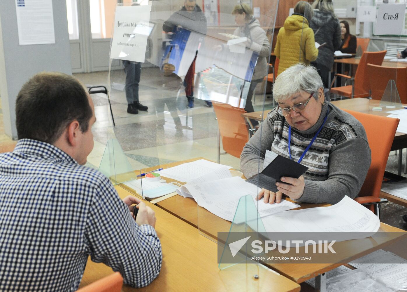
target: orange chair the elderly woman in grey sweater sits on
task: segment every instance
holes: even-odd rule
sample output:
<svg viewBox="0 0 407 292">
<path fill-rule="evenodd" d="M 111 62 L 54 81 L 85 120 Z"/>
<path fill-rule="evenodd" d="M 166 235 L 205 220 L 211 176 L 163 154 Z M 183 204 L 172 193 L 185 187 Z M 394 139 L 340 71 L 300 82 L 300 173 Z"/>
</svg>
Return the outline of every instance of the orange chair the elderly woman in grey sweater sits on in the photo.
<svg viewBox="0 0 407 292">
<path fill-rule="evenodd" d="M 362 205 L 369 205 L 372 212 L 380 215 L 380 204 L 387 202 L 379 198 L 383 175 L 392 148 L 394 134 L 396 133 L 399 119 L 382 117 L 356 111 L 346 111 L 353 115 L 365 128 L 368 136 L 369 147 L 372 150 L 372 162 L 365 182 L 355 200 Z M 380 133 L 380 135 L 378 135 Z"/>
</svg>

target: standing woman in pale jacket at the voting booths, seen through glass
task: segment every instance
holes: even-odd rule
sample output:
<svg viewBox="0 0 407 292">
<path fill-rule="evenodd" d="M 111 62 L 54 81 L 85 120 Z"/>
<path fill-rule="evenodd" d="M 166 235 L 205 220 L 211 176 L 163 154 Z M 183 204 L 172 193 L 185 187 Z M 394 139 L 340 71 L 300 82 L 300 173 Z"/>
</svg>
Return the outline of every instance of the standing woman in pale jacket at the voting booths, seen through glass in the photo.
<svg viewBox="0 0 407 292">
<path fill-rule="evenodd" d="M 233 11 L 234 20 L 238 26 L 234 31 L 234 35 L 239 37 L 247 37 L 246 47 L 258 53 L 258 59 L 250 82 L 249 91 L 247 93 L 245 111 L 247 113 L 254 112 L 252 97 L 256 85 L 263 82 L 263 78 L 267 75 L 267 61 L 270 57 L 270 42 L 267 39 L 266 32 L 260 27 L 260 22 L 253 16 L 253 10 L 249 5 L 242 3 L 237 4 Z M 250 120 L 253 126 L 258 125 L 255 120 Z"/>
</svg>

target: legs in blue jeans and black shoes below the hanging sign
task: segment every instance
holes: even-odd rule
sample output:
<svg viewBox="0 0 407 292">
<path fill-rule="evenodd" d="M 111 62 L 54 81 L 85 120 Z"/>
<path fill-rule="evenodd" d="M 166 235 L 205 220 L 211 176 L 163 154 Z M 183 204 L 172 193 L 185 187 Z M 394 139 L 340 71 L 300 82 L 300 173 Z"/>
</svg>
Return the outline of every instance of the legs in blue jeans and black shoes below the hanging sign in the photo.
<svg viewBox="0 0 407 292">
<path fill-rule="evenodd" d="M 123 60 L 126 73 L 126 100 L 127 113 L 133 115 L 138 114 L 138 111 L 147 111 L 148 107 L 140 104 L 138 100 L 138 84 L 140 83 L 141 63 Z"/>
</svg>

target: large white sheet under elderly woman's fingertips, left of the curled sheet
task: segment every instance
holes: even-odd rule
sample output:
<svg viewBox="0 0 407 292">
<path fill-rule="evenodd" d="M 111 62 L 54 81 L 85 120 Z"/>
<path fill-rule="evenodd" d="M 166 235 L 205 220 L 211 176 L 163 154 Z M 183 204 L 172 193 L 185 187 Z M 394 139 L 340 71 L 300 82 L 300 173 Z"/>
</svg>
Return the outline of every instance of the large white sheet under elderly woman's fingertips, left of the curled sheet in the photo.
<svg viewBox="0 0 407 292">
<path fill-rule="evenodd" d="M 255 199 L 259 189 L 241 177 L 230 177 L 199 184 L 186 184 L 181 187 L 181 190 L 188 197 L 193 197 L 199 206 L 218 217 L 232 221 L 239 199 L 246 195 L 251 195 Z M 272 205 L 265 204 L 261 200 L 258 204 L 255 201 L 254 204 L 258 205 L 260 217 L 300 207 L 286 200 Z"/>
</svg>

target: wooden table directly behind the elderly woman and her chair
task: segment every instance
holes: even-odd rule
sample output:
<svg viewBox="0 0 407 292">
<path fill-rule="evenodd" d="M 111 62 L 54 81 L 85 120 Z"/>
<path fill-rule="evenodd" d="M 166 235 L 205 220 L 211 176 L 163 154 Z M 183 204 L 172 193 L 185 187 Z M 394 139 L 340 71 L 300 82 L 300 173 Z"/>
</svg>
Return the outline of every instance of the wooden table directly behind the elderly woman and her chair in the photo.
<svg viewBox="0 0 407 292">
<path fill-rule="evenodd" d="M 345 60 L 349 60 L 349 59 L 345 59 Z M 378 105 L 380 101 L 379 100 L 369 100 L 367 98 L 357 97 L 357 98 L 351 98 L 351 99 L 347 99 L 347 100 L 337 100 L 337 101 L 334 101 L 331 103 L 343 110 L 357 111 L 359 113 L 368 113 L 371 115 L 381 115 L 383 117 L 386 117 L 387 115 L 389 115 L 389 113 L 386 113 L 386 111 L 369 110 L 369 102 L 377 103 L 377 105 Z M 269 111 L 270 110 L 256 111 L 253 113 L 243 113 L 242 117 L 245 117 L 246 119 L 255 119 L 257 121 L 263 121 L 265 116 L 267 116 L 267 113 L 269 113 Z M 399 150 L 398 151 L 399 152 L 398 175 L 401 174 L 401 165 L 402 165 L 401 161 L 403 159 L 403 153 L 402 153 L 403 148 L 407 148 L 407 134 L 396 132 L 396 135 L 394 135 L 394 140 L 393 140 L 391 151 Z"/>
</svg>

